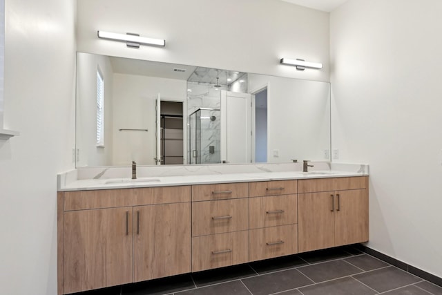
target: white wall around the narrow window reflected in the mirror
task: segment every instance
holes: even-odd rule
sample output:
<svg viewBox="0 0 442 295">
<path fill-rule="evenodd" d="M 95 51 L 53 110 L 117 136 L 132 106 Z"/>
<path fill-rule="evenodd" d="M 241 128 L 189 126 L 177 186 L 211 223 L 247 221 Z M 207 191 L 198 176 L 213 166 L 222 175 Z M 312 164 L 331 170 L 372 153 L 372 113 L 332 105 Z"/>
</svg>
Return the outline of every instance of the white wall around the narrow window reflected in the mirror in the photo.
<svg viewBox="0 0 442 295">
<path fill-rule="evenodd" d="M 97 146 L 97 69 L 104 81 L 104 147 Z M 109 57 L 77 54 L 77 167 L 111 166 L 113 68 Z"/>
</svg>

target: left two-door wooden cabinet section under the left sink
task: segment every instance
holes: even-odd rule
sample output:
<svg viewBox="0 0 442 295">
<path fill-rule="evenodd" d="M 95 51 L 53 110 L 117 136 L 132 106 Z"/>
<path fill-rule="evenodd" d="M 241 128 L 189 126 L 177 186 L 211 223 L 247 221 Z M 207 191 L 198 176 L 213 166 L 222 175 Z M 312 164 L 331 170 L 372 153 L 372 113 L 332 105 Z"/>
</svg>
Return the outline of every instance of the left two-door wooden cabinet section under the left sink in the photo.
<svg viewBox="0 0 442 295">
<path fill-rule="evenodd" d="M 191 187 L 59 193 L 59 294 L 191 272 L 190 201 Z"/>
</svg>

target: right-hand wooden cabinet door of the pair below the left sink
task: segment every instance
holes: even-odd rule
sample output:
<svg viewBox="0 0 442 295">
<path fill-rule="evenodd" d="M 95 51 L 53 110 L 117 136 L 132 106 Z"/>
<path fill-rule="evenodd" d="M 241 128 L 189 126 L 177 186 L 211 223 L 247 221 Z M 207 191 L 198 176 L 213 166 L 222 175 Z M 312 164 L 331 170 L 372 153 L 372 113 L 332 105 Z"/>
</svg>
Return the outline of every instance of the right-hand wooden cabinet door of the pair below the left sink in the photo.
<svg viewBox="0 0 442 295">
<path fill-rule="evenodd" d="M 191 204 L 134 207 L 134 281 L 191 272 Z"/>
</svg>

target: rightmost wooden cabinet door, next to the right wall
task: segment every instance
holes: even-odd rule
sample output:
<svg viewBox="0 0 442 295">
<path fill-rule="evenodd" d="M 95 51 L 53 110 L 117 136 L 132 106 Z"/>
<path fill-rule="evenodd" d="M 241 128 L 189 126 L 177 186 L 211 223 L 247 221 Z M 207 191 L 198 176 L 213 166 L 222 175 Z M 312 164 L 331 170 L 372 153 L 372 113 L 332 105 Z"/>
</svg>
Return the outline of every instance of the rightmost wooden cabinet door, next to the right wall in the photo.
<svg viewBox="0 0 442 295">
<path fill-rule="evenodd" d="M 365 189 L 337 191 L 335 245 L 368 240 L 368 194 Z"/>
</svg>

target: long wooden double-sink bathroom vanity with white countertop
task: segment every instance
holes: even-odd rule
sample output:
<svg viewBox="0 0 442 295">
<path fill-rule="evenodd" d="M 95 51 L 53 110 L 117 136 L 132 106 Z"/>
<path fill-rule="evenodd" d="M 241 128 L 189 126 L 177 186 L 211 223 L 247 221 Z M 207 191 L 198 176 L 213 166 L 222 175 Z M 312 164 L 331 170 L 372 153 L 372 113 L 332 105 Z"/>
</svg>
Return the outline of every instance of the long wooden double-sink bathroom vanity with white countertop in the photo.
<svg viewBox="0 0 442 295">
<path fill-rule="evenodd" d="M 367 182 L 342 171 L 74 181 L 58 193 L 58 292 L 366 242 Z"/>
</svg>

